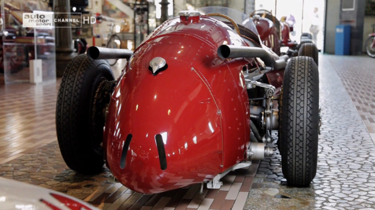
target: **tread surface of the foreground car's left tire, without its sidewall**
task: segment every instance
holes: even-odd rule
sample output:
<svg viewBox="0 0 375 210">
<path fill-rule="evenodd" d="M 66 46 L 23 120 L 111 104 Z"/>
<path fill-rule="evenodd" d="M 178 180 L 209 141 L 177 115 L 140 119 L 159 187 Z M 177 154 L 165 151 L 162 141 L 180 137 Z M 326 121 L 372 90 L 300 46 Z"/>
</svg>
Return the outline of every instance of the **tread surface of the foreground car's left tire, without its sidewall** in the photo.
<svg viewBox="0 0 375 210">
<path fill-rule="evenodd" d="M 89 133 L 81 124 L 85 119 L 80 111 L 83 98 L 91 97 L 81 92 L 87 87 L 85 76 L 88 70 L 95 70 L 103 62 L 89 59 L 86 54 L 73 58 L 63 72 L 57 94 L 56 133 L 61 155 L 71 169 L 81 173 L 97 172 L 104 164 L 103 156 L 89 148 Z"/>
</svg>

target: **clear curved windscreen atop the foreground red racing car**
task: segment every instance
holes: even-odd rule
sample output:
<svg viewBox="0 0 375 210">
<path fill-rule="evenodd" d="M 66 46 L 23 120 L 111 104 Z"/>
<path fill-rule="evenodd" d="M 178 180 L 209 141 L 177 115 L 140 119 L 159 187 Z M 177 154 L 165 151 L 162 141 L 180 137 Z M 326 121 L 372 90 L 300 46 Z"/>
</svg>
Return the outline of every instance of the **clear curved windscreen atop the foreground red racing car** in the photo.
<svg viewBox="0 0 375 210">
<path fill-rule="evenodd" d="M 243 26 L 247 28 L 248 30 L 250 30 L 251 32 L 253 32 L 256 36 L 259 36 L 258 31 L 256 30 L 256 27 L 252 19 L 249 18 L 246 14 L 238 10 L 228 8 L 228 7 L 222 7 L 222 6 L 207 6 L 207 7 L 198 8 L 198 11 L 203 15 L 209 14 L 209 13 L 224 14 L 230 17 L 231 19 L 233 19 L 233 21 L 237 23 L 238 27 Z M 228 22 L 227 19 L 220 17 L 220 16 L 212 16 L 212 17 L 220 21 L 223 21 L 225 23 Z"/>
</svg>

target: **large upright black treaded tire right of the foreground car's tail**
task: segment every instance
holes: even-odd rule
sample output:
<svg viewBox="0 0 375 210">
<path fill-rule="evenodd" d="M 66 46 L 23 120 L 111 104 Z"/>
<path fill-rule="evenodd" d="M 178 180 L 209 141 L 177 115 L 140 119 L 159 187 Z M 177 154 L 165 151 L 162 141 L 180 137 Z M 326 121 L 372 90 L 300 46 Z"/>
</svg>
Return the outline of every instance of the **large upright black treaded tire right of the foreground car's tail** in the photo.
<svg viewBox="0 0 375 210">
<path fill-rule="evenodd" d="M 282 173 L 289 185 L 307 186 L 316 174 L 319 129 L 319 75 L 311 57 L 286 65 L 280 104 Z"/>
</svg>

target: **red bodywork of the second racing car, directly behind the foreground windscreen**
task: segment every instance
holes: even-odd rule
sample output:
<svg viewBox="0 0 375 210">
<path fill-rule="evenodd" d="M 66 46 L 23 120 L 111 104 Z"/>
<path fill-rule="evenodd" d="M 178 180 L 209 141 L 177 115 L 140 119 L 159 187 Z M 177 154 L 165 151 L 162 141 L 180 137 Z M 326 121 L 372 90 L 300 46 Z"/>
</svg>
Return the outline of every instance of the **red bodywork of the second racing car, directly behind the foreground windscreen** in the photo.
<svg viewBox="0 0 375 210">
<path fill-rule="evenodd" d="M 280 55 L 280 34 L 276 31 L 273 22 L 267 18 L 254 19 L 256 29 L 263 44 Z"/>
</svg>

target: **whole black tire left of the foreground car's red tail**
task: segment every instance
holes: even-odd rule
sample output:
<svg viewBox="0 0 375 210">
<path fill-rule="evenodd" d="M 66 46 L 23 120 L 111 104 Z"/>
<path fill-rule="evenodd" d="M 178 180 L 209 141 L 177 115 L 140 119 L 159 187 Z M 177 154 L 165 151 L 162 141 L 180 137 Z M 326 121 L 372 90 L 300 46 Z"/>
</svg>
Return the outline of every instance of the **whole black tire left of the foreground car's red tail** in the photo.
<svg viewBox="0 0 375 210">
<path fill-rule="evenodd" d="M 80 54 L 64 70 L 56 103 L 56 132 L 61 155 L 67 166 L 83 174 L 99 172 L 104 164 L 103 129 L 92 113 L 97 87 L 114 80 L 105 60 Z M 102 123 L 103 124 L 103 123 Z M 94 126 L 93 126 L 94 125 Z"/>
</svg>

